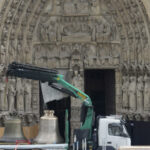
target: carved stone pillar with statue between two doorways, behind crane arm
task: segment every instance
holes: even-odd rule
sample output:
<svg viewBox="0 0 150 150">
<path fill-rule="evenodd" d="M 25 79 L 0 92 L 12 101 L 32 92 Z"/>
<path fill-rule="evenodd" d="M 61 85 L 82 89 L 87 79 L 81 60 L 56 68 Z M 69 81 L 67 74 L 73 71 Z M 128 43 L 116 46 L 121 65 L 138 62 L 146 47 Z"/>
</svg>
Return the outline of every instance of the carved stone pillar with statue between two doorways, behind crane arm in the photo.
<svg viewBox="0 0 150 150">
<path fill-rule="evenodd" d="M 70 60 L 70 72 L 72 74 L 72 84 L 79 90 L 84 89 L 84 78 L 83 78 L 83 62 L 81 59 L 81 50 L 79 51 L 80 45 L 74 45 L 74 52 Z M 80 110 L 81 101 L 76 98 L 71 98 L 71 142 L 73 142 L 73 131 L 75 128 L 80 127 Z"/>
</svg>

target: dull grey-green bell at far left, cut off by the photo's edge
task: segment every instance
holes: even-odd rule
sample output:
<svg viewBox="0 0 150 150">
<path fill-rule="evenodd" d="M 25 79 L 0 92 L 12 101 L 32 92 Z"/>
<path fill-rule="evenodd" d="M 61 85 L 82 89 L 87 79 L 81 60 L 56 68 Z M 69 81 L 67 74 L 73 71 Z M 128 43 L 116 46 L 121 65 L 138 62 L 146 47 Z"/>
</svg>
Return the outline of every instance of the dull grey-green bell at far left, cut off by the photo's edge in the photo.
<svg viewBox="0 0 150 150">
<path fill-rule="evenodd" d="M 7 118 L 4 121 L 5 131 L 0 143 L 16 143 L 26 140 L 22 132 L 21 120 L 19 118 Z"/>
</svg>

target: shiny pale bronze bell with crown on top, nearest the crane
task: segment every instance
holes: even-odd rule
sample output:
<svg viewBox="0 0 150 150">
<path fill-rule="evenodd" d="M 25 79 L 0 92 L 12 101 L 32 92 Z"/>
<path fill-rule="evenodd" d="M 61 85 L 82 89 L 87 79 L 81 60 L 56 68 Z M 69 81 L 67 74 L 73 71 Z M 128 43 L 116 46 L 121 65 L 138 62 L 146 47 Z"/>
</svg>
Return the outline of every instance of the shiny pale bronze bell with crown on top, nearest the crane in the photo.
<svg viewBox="0 0 150 150">
<path fill-rule="evenodd" d="M 44 116 L 40 118 L 40 129 L 38 136 L 34 139 L 39 144 L 62 143 L 63 139 L 59 134 L 58 118 L 54 116 L 53 110 L 45 110 Z"/>
</svg>

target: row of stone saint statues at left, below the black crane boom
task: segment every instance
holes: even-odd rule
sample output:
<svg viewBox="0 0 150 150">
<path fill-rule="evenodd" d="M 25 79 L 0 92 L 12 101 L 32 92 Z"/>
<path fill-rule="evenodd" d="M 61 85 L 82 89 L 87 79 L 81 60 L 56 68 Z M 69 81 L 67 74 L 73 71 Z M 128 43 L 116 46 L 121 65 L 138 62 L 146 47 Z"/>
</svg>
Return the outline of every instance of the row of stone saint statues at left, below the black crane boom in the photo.
<svg viewBox="0 0 150 150">
<path fill-rule="evenodd" d="M 0 77 L 0 111 L 32 112 L 31 80 Z"/>
</svg>

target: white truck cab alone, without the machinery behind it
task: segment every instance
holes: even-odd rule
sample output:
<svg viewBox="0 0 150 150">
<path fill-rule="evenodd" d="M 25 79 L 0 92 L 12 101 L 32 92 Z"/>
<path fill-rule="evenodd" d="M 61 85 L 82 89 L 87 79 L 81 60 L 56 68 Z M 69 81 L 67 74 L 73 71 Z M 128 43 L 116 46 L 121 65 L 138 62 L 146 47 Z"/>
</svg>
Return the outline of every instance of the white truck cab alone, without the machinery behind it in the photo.
<svg viewBox="0 0 150 150">
<path fill-rule="evenodd" d="M 114 116 L 98 117 L 98 147 L 118 149 L 131 145 L 131 140 L 123 122 Z"/>
</svg>

